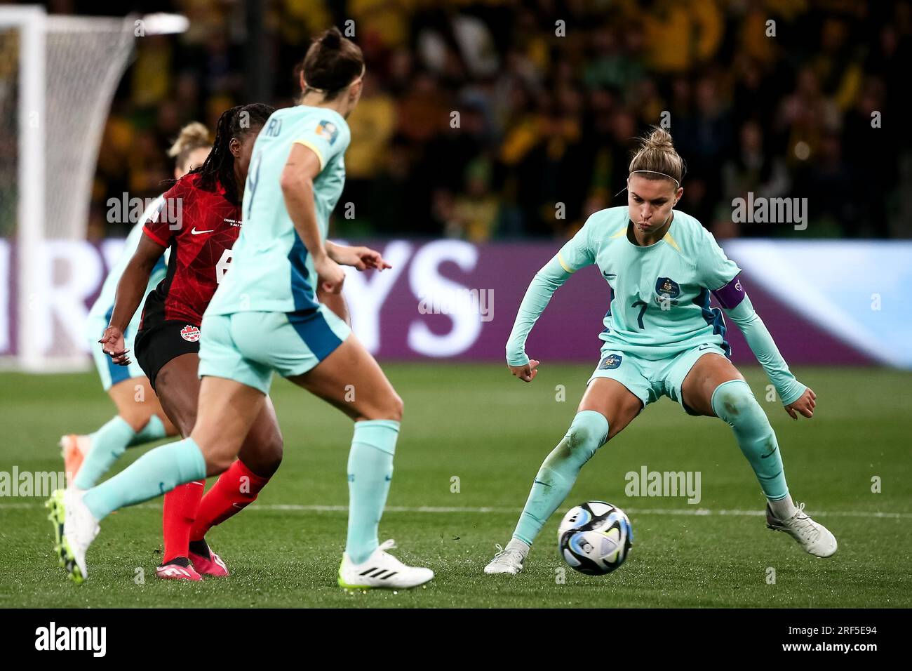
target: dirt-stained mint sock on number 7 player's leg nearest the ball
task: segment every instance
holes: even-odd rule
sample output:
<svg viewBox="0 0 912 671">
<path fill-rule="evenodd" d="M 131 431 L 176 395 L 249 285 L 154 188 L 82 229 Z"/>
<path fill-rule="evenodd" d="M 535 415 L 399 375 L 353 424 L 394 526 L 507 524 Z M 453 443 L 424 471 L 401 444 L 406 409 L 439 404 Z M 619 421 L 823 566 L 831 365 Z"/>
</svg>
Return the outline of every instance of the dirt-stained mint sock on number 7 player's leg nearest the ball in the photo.
<svg viewBox="0 0 912 671">
<path fill-rule="evenodd" d="M 583 410 L 574 417 L 560 443 L 544 459 L 535 476 L 523 514 L 513 538 L 532 545 L 544 523 L 560 506 L 579 476 L 579 471 L 608 439 L 608 420 L 594 410 Z"/>
</svg>

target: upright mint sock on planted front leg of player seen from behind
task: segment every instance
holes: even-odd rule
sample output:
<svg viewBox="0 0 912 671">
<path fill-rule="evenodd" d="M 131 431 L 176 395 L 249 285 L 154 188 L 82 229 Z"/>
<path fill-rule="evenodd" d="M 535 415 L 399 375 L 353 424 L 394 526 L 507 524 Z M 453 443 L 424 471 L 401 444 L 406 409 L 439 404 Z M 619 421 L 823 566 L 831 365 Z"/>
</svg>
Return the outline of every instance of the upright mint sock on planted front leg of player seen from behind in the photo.
<svg viewBox="0 0 912 671">
<path fill-rule="evenodd" d="M 356 564 L 377 549 L 380 517 L 393 477 L 399 422 L 373 419 L 355 423 L 348 453 L 348 537 L 346 552 Z"/>
</svg>

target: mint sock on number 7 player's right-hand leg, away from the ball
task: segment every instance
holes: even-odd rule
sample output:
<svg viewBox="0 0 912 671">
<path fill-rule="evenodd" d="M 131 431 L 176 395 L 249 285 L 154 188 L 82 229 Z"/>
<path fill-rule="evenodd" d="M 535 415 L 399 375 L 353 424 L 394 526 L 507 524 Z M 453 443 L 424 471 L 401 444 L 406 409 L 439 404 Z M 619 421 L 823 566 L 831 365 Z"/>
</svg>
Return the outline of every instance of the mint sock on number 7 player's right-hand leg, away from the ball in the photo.
<svg viewBox="0 0 912 671">
<path fill-rule="evenodd" d="M 778 501 L 787 497 L 789 488 L 785 484 L 779 443 L 751 387 L 743 380 L 721 383 L 712 393 L 710 403 L 713 411 L 734 431 L 766 498 Z"/>
</svg>

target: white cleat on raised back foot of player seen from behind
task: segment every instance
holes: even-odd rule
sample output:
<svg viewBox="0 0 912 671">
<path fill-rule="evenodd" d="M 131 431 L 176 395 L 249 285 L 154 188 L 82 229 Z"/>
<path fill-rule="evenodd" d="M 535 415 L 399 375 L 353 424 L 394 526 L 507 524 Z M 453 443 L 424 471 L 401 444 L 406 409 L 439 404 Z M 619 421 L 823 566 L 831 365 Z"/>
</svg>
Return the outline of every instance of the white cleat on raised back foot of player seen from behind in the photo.
<svg viewBox="0 0 912 671">
<path fill-rule="evenodd" d="M 60 565 L 77 584 L 86 579 L 86 552 L 99 529 L 98 520 L 82 501 L 84 495 L 84 491 L 75 488 L 57 489 L 46 504 L 51 509 L 47 517 L 54 524 Z"/>
</svg>

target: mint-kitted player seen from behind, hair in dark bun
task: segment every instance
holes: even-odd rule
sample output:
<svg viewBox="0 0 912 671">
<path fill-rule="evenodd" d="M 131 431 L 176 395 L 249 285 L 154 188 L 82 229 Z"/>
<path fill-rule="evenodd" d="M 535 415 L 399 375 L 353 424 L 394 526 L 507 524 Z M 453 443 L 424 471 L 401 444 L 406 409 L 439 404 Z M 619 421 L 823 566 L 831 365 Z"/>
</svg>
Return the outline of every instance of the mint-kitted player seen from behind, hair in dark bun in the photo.
<svg viewBox="0 0 912 671">
<path fill-rule="evenodd" d="M 346 322 L 314 292 L 318 280 L 331 293 L 341 290 L 340 265 L 389 267 L 367 247 L 326 241 L 329 214 L 345 183 L 346 117 L 358 104 L 363 77 L 360 48 L 331 28 L 307 50 L 301 104 L 266 121 L 247 173 L 244 227 L 232 267 L 203 315 L 196 425 L 189 438 L 150 451 L 98 487 L 84 494 L 67 490 L 59 554 L 75 582 L 85 578 L 86 551 L 99 520 L 232 464 L 264 407 L 274 371 L 355 422 L 338 584 L 401 589 L 433 578 L 430 569 L 389 554 L 393 541 L 378 543 L 402 401 Z"/>
</svg>

